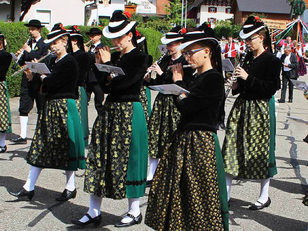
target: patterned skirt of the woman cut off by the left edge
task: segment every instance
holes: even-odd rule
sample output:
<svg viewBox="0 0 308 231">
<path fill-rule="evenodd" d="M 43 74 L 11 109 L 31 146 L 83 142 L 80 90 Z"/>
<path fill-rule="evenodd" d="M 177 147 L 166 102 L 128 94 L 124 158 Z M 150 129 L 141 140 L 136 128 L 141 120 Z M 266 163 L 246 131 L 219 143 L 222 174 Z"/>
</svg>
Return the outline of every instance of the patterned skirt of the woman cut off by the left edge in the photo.
<svg viewBox="0 0 308 231">
<path fill-rule="evenodd" d="M 12 132 L 9 90 L 6 81 L 0 81 L 0 132 Z"/>
</svg>

